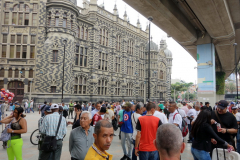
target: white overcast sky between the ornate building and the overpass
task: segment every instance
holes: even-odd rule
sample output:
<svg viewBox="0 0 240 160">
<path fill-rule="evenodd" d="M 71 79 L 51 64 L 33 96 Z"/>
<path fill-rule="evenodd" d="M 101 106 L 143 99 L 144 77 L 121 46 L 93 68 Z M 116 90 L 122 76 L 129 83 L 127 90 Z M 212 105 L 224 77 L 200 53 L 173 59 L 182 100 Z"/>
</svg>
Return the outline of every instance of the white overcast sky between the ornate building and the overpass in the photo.
<svg viewBox="0 0 240 160">
<path fill-rule="evenodd" d="M 103 1 L 105 2 L 105 9 L 113 12 L 115 0 L 98 0 L 98 5 L 102 4 Z M 148 20 L 144 16 L 122 0 L 117 0 L 116 3 L 120 18 L 123 18 L 126 8 L 130 23 L 136 26 L 139 17 L 142 29 L 145 31 Z M 82 6 L 82 0 L 78 0 L 78 6 Z M 193 82 L 194 84 L 195 82 L 197 83 L 197 69 L 194 69 L 194 67 L 197 66 L 197 62 L 194 58 L 173 38 L 167 38 L 167 34 L 154 24 L 151 25 L 151 35 L 153 41 L 158 45 L 162 38 L 167 40 L 168 49 L 171 50 L 173 54 L 172 79 L 181 79 L 186 82 Z"/>
</svg>

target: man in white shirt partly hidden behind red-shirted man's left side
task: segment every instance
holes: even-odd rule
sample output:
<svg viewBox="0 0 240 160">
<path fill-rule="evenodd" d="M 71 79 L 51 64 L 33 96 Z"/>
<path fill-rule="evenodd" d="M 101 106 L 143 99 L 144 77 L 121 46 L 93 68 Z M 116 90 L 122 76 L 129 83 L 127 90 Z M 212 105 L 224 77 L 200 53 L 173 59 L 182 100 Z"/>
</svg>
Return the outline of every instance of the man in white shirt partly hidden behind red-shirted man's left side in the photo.
<svg viewBox="0 0 240 160">
<path fill-rule="evenodd" d="M 133 126 L 133 145 L 135 146 L 135 140 L 136 140 L 136 136 L 137 136 L 137 121 L 138 118 L 142 116 L 143 113 L 143 106 L 140 104 L 136 105 L 135 111 L 132 115 L 131 115 L 131 120 L 132 120 L 132 126 Z M 133 147 L 133 151 L 132 151 L 132 160 L 137 160 L 137 156 L 135 155 L 135 147 Z"/>
</svg>

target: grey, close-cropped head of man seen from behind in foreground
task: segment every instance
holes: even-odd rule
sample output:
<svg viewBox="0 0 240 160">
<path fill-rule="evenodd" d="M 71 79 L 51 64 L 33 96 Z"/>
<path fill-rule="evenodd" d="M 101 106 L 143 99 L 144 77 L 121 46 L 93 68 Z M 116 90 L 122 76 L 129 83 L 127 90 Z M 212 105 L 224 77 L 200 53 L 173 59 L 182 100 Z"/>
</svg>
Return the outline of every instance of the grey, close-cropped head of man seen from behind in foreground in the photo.
<svg viewBox="0 0 240 160">
<path fill-rule="evenodd" d="M 161 160 L 179 160 L 185 149 L 180 129 L 174 124 L 162 124 L 157 130 L 155 146 Z"/>
</svg>

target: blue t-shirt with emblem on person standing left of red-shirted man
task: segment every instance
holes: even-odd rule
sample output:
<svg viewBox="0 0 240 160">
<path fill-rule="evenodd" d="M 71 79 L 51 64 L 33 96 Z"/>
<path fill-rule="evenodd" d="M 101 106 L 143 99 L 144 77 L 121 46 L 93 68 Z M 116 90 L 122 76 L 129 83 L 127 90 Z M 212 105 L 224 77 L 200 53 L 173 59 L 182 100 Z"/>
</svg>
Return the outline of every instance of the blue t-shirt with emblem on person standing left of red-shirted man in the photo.
<svg viewBox="0 0 240 160">
<path fill-rule="evenodd" d="M 133 112 L 124 111 L 123 112 L 123 124 L 121 126 L 121 131 L 124 133 L 133 133 L 131 114 Z"/>
</svg>

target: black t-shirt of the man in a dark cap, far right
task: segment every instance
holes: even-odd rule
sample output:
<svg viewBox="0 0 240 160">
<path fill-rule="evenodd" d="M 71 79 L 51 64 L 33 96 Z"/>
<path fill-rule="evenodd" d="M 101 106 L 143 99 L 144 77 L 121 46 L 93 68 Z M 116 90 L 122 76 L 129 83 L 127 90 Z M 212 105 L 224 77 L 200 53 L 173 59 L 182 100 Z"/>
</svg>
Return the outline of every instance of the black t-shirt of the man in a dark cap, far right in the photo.
<svg viewBox="0 0 240 160">
<path fill-rule="evenodd" d="M 238 129 L 237 120 L 236 120 L 235 116 L 232 113 L 227 112 L 225 114 L 218 114 L 218 117 L 221 120 L 222 124 L 227 129 L 230 129 L 230 128 Z M 214 119 L 217 123 L 220 123 L 218 118 L 217 118 L 217 116 L 216 116 L 216 114 L 215 114 L 215 111 L 212 111 L 212 119 Z M 223 134 L 221 132 L 218 132 L 216 124 L 213 124 L 212 127 L 213 127 L 213 130 L 217 133 L 217 135 L 220 138 L 222 138 L 226 142 L 228 142 L 231 145 L 233 145 L 232 141 L 231 141 L 231 138 L 230 138 L 230 134 L 228 134 L 228 133 Z M 225 128 L 222 125 L 221 125 L 221 127 Z M 236 134 L 231 134 L 231 135 L 233 136 L 233 138 L 236 136 Z"/>
</svg>

